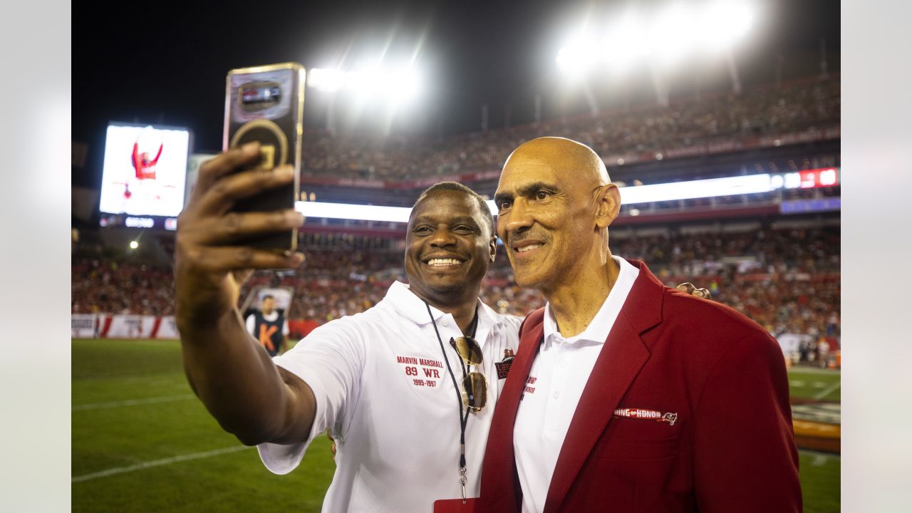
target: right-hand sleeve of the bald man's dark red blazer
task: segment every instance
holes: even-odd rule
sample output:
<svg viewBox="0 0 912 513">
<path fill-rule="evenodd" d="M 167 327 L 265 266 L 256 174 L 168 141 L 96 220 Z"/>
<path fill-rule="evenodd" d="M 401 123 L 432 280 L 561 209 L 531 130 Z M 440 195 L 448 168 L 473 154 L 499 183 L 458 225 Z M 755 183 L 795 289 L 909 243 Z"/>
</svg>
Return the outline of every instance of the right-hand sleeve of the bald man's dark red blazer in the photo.
<svg viewBox="0 0 912 513">
<path fill-rule="evenodd" d="M 700 512 L 802 510 L 788 375 L 765 334 L 732 340 L 710 372 L 694 416 Z"/>
</svg>

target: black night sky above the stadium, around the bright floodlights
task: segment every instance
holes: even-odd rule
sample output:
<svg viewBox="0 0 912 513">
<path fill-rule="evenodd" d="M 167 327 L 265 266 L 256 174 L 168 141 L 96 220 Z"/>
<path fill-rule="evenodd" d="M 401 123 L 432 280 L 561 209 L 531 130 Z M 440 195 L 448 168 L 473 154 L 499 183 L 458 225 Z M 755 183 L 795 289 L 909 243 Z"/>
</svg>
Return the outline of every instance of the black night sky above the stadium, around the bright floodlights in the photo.
<svg viewBox="0 0 912 513">
<path fill-rule="evenodd" d="M 669 0 L 640 2 L 643 12 Z M 699 4 L 701 2 L 691 2 Z M 544 117 L 585 110 L 581 95 L 557 100 L 554 56 L 566 27 L 585 13 L 609 19 L 629 2 L 269 2 L 240 5 L 184 2 L 97 8 L 73 15 L 73 140 L 88 143 L 84 169 L 73 184 L 98 186 L 105 127 L 111 120 L 189 127 L 194 152 L 221 149 L 224 77 L 229 69 L 296 61 L 326 68 L 377 56 L 409 58 L 428 83 L 420 99 L 400 112 L 394 133 L 451 135 L 480 128 L 489 105 L 492 128 L 533 118 L 541 94 Z M 736 58 L 745 87 L 774 79 L 782 56 L 785 79 L 819 68 L 825 39 L 828 68 L 839 69 L 839 3 L 754 0 L 759 19 Z M 422 43 L 419 43 L 423 41 Z M 702 64 L 701 64 L 702 66 Z M 690 65 L 671 78 L 672 92 L 721 87 L 718 63 Z M 713 79 L 713 78 L 716 79 Z M 704 79 L 705 78 L 705 79 Z M 702 85 L 700 86 L 700 80 Z M 603 106 L 648 91 L 645 71 L 621 89 L 599 92 Z M 677 89 L 676 89 L 677 88 Z M 601 89 L 600 89 L 601 90 Z M 325 123 L 325 93 L 307 90 L 305 122 Z M 376 112 L 362 112 L 371 119 Z M 343 116 L 344 117 L 344 116 Z M 353 125 L 357 126 L 357 125 Z M 367 130 L 367 129 L 364 129 Z"/>
</svg>

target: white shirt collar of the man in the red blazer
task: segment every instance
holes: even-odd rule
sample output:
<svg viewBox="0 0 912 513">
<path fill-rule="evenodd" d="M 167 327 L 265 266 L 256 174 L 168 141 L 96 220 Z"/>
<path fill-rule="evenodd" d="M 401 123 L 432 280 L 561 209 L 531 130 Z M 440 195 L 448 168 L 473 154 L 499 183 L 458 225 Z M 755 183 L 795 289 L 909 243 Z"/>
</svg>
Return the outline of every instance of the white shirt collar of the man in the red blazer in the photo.
<svg viewBox="0 0 912 513">
<path fill-rule="evenodd" d="M 608 338 L 608 333 L 611 331 L 611 327 L 615 324 L 617 314 L 620 313 L 621 307 L 624 306 L 624 301 L 627 300 L 627 295 L 630 293 L 630 289 L 633 288 L 633 284 L 637 281 L 637 277 L 639 276 L 639 269 L 633 267 L 626 259 L 617 256 L 612 257 L 617 262 L 618 267 L 620 267 L 620 272 L 617 273 L 615 286 L 608 292 L 608 297 L 605 298 L 605 302 L 602 303 L 602 308 L 598 309 L 596 317 L 589 322 L 586 330 L 582 333 L 567 339 L 561 336 L 560 331 L 557 330 L 557 320 L 554 319 L 554 313 L 551 311 L 551 303 L 545 303 L 543 350 L 549 347 L 553 341 L 557 340 L 565 340 L 571 343 L 577 340 L 586 340 L 596 344 L 605 343 L 605 340 Z"/>
</svg>

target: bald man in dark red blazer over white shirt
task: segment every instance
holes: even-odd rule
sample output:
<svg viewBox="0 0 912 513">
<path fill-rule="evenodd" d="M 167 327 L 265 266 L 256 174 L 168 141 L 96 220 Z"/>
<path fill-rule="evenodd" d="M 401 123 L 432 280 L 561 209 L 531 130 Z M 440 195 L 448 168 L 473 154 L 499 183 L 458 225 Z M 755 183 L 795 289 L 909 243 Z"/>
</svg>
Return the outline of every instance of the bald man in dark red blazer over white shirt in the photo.
<svg viewBox="0 0 912 513">
<path fill-rule="evenodd" d="M 482 510 L 800 511 L 782 351 L 611 254 L 621 198 L 596 152 L 526 142 L 494 198 L 516 283 L 547 304 L 492 420 Z"/>
</svg>

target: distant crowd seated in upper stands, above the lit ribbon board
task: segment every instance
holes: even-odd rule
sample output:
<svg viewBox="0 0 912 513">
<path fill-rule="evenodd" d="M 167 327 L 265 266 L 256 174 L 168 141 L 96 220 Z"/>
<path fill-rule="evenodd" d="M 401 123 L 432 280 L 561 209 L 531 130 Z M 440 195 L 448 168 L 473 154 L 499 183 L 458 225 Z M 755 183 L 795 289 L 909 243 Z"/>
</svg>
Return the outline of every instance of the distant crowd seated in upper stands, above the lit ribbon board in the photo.
<svg viewBox="0 0 912 513">
<path fill-rule="evenodd" d="M 681 99 L 668 107 L 654 104 L 544 120 L 442 141 L 312 131 L 305 137 L 305 162 L 307 173 L 317 176 L 405 180 L 494 169 L 513 148 L 543 135 L 567 137 L 601 155 L 617 155 L 825 128 L 839 119 L 836 77 L 752 89 L 741 95 Z"/>
</svg>

